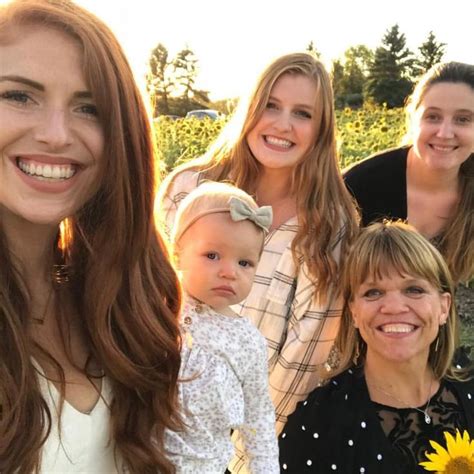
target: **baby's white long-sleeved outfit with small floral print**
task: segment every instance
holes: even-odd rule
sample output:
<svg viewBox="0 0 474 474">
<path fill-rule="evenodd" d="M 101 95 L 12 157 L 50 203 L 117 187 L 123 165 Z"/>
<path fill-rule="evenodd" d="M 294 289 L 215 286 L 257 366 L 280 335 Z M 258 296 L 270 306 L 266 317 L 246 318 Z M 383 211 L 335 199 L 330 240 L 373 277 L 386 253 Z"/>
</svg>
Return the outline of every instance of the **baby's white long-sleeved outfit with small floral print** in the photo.
<svg viewBox="0 0 474 474">
<path fill-rule="evenodd" d="M 165 435 L 177 472 L 222 474 L 235 430 L 249 472 L 279 473 L 265 339 L 246 318 L 222 315 L 191 298 L 181 320 L 179 400 L 187 429 Z"/>
</svg>

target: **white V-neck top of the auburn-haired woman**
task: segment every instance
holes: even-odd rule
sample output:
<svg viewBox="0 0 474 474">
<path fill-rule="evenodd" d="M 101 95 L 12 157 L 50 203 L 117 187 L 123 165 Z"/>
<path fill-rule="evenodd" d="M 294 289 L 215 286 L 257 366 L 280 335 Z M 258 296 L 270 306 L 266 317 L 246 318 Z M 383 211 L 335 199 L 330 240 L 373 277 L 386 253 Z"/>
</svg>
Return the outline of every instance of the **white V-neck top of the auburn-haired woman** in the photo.
<svg viewBox="0 0 474 474">
<path fill-rule="evenodd" d="M 43 376 L 39 364 L 35 366 L 39 375 L 43 397 L 52 416 L 51 433 L 43 447 L 40 473 L 118 474 L 114 443 L 110 440 L 111 389 L 106 378 L 102 379 L 102 393 L 89 414 L 76 410 L 64 401 L 61 427 L 58 431 L 58 409 L 60 394 L 53 383 Z"/>
</svg>

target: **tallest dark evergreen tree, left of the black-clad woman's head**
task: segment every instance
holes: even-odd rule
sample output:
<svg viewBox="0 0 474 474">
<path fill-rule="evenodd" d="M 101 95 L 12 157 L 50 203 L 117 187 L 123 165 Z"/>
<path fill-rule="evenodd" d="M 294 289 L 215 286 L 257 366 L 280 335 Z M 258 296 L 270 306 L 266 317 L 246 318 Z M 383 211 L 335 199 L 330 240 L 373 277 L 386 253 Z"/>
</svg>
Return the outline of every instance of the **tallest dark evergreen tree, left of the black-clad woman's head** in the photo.
<svg viewBox="0 0 474 474">
<path fill-rule="evenodd" d="M 412 67 L 413 53 L 406 47 L 405 35 L 400 33 L 398 25 L 394 25 L 375 50 L 369 67 L 367 95 L 378 104 L 401 107 L 413 87 Z"/>
</svg>

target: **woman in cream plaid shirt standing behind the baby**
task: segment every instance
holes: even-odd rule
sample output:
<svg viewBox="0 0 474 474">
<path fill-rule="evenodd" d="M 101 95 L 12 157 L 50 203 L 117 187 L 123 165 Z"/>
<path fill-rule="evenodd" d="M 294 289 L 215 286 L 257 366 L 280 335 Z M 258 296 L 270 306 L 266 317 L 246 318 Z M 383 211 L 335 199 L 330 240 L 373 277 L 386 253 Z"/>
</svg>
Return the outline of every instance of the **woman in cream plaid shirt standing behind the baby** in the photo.
<svg viewBox="0 0 474 474">
<path fill-rule="evenodd" d="M 168 228 L 182 199 L 206 180 L 231 181 L 259 206 L 272 206 L 253 286 L 237 311 L 267 339 L 277 431 L 328 358 L 342 310 L 340 255 L 357 229 L 338 169 L 334 117 L 322 64 L 309 54 L 282 56 L 210 150 L 170 174 L 158 203 Z"/>
</svg>

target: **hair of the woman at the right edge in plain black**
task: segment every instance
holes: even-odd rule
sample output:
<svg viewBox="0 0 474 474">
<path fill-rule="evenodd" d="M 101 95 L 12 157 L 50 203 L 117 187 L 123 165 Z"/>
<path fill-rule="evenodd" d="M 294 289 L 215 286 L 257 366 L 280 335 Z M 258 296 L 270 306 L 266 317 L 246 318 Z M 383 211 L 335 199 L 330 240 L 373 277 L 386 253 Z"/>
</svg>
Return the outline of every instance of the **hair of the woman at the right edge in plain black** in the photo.
<svg viewBox="0 0 474 474">
<path fill-rule="evenodd" d="M 474 92 L 474 65 L 458 62 L 441 63 L 426 72 L 409 97 L 406 107 L 407 130 L 427 92 L 436 84 L 465 84 Z M 406 141 L 410 140 L 410 132 Z M 460 200 L 446 223 L 438 248 L 456 282 L 474 276 L 474 153 L 459 170 Z"/>
</svg>

